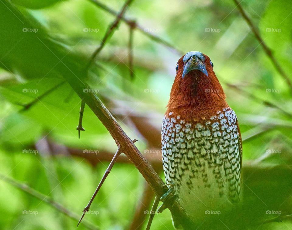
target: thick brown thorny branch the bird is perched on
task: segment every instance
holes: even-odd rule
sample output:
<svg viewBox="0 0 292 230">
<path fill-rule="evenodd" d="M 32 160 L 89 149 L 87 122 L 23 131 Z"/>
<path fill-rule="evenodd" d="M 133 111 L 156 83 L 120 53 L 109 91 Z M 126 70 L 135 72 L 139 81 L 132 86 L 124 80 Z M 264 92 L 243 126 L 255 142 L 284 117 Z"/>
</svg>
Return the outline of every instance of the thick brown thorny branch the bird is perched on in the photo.
<svg viewBox="0 0 292 230">
<path fill-rule="evenodd" d="M 63 77 L 71 85 L 77 95 L 85 100 L 85 103 L 96 114 L 113 139 L 120 144 L 120 148 L 123 149 L 125 155 L 127 155 L 127 157 L 134 163 L 155 194 L 158 197 L 161 197 L 166 192 L 165 187 L 163 186 L 164 182 L 137 149 L 134 142 L 123 131 L 106 106 L 94 93 L 92 93 L 91 88 L 87 84 L 79 81 L 76 75 L 68 72 L 68 74 L 64 74 Z M 88 89 L 86 90 L 87 92 L 84 92 L 84 89 Z M 169 207 L 169 210 L 173 214 L 173 220 L 175 223 L 178 222 L 183 226 L 193 225 L 192 221 L 178 202 L 175 202 L 172 207 Z"/>
</svg>

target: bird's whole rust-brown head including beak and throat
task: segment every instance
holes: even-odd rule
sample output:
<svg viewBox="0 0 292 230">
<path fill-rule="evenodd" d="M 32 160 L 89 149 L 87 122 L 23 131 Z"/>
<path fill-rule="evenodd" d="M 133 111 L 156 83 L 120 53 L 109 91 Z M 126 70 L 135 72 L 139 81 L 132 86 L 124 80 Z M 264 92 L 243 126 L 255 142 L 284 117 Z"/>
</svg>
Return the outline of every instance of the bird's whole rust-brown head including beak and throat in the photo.
<svg viewBox="0 0 292 230">
<path fill-rule="evenodd" d="M 168 111 L 200 119 L 228 106 L 213 67 L 210 58 L 201 52 L 183 55 L 176 64 Z"/>
</svg>

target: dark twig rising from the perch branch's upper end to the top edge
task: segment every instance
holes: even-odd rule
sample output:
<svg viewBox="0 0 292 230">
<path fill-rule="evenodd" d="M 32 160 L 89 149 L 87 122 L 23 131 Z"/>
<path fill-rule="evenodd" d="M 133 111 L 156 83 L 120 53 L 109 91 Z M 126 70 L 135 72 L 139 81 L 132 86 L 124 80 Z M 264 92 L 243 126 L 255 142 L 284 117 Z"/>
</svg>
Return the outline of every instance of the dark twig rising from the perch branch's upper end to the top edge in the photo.
<svg viewBox="0 0 292 230">
<path fill-rule="evenodd" d="M 126 12 L 126 9 L 128 8 L 128 6 L 130 6 L 130 4 L 133 2 L 134 0 L 128 0 L 124 5 L 123 8 L 121 9 L 120 13 L 116 15 L 116 19 L 114 20 L 114 22 L 109 26 L 108 30 L 106 31 L 106 34 L 103 37 L 103 40 L 101 41 L 99 47 L 96 49 L 96 51 L 94 51 L 94 53 L 92 54 L 86 68 L 85 68 L 85 72 L 88 71 L 88 69 L 90 68 L 90 66 L 93 64 L 93 62 L 96 59 L 96 56 L 99 54 L 99 52 L 103 49 L 104 45 L 106 44 L 106 41 L 108 40 L 108 38 L 114 33 L 114 31 L 116 30 L 116 28 L 119 26 L 120 20 L 122 19 L 123 15 Z"/>
</svg>

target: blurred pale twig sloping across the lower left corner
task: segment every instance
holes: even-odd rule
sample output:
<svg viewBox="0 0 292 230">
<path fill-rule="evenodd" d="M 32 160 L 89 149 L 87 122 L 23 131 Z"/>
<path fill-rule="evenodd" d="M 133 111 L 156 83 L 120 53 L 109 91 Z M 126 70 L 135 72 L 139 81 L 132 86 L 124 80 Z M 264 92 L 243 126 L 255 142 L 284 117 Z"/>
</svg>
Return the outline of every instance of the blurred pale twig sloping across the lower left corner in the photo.
<svg viewBox="0 0 292 230">
<path fill-rule="evenodd" d="M 78 215 L 69 211 L 67 208 L 65 208 L 63 205 L 61 205 L 60 203 L 52 200 L 50 197 L 44 195 L 43 193 L 40 193 L 37 190 L 34 190 L 33 188 L 29 187 L 26 184 L 23 183 L 19 183 L 17 181 L 15 181 L 12 178 L 9 178 L 7 176 L 4 176 L 3 174 L 0 174 L 0 178 L 4 181 L 6 181 L 7 183 L 11 184 L 12 186 L 17 187 L 18 189 L 26 192 L 27 194 L 36 197 L 37 199 L 46 202 L 47 204 L 49 204 L 51 207 L 54 207 L 56 210 L 62 212 L 63 214 L 65 214 L 66 216 L 70 217 L 73 220 L 78 220 Z M 98 229 L 97 226 L 93 225 L 92 223 L 90 223 L 89 221 L 83 221 L 82 224 L 88 228 L 88 229 Z"/>
</svg>

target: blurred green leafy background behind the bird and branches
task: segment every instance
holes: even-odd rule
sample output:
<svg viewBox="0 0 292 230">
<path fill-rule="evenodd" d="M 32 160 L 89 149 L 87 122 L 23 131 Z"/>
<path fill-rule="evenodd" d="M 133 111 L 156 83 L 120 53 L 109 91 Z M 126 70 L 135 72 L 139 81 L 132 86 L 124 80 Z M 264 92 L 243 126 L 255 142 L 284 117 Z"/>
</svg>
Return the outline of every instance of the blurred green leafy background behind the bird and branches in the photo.
<svg viewBox="0 0 292 230">
<path fill-rule="evenodd" d="M 116 144 L 87 106 L 78 139 L 81 101 L 62 74 L 86 65 L 123 4 L 1 0 L 1 229 L 76 228 Z M 259 222 L 255 229 L 291 229 L 289 218 L 267 220 L 292 214 L 292 100 L 273 64 L 292 79 L 292 2 L 240 5 L 261 42 L 231 0 L 135 0 L 124 16 L 133 26 L 121 21 L 81 80 L 164 179 L 160 125 L 176 62 L 189 51 L 207 54 L 242 132 L 245 212 Z M 144 229 L 153 199 L 122 155 L 85 215 L 91 224 L 78 229 Z M 152 227 L 173 229 L 170 212 L 155 215 Z"/>
</svg>

